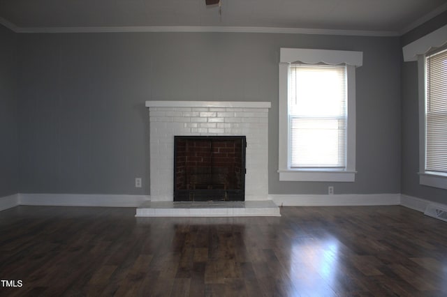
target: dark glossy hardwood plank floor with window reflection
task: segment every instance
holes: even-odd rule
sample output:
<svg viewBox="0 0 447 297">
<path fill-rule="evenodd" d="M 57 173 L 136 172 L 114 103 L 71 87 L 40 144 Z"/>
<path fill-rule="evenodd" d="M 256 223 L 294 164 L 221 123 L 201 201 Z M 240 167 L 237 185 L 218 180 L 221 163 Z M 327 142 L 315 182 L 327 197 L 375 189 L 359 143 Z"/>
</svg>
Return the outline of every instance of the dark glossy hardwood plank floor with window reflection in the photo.
<svg viewBox="0 0 447 297">
<path fill-rule="evenodd" d="M 1 296 L 447 296 L 447 223 L 402 206 L 270 218 L 0 212 Z"/>
</svg>

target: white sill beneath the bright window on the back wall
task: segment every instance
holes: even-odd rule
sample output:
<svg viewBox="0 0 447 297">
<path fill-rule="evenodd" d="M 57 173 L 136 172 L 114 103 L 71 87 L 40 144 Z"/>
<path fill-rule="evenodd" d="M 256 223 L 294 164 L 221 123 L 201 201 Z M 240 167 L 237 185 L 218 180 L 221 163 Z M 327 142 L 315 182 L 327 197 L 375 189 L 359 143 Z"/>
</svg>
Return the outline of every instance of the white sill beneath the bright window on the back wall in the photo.
<svg viewBox="0 0 447 297">
<path fill-rule="evenodd" d="M 356 181 L 356 172 L 328 171 L 328 170 L 278 170 L 279 181 Z"/>
</svg>

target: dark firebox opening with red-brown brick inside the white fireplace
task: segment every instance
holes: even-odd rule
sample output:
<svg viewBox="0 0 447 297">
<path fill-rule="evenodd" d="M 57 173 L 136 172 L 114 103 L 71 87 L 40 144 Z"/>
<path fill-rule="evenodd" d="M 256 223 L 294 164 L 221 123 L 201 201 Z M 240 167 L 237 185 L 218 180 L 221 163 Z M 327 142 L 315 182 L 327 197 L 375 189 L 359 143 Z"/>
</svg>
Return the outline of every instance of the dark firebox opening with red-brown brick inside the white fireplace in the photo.
<svg viewBox="0 0 447 297">
<path fill-rule="evenodd" d="M 244 136 L 174 138 L 174 201 L 244 201 Z"/>
</svg>

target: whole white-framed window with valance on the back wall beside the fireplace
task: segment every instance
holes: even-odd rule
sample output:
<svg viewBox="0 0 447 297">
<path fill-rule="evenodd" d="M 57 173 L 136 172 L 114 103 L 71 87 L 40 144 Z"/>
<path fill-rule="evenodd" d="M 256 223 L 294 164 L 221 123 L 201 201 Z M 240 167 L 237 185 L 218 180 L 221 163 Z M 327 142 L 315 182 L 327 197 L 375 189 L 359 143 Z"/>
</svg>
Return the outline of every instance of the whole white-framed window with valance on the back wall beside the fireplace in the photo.
<svg viewBox="0 0 447 297">
<path fill-rule="evenodd" d="M 280 181 L 355 181 L 361 61 L 361 52 L 281 49 Z"/>
</svg>

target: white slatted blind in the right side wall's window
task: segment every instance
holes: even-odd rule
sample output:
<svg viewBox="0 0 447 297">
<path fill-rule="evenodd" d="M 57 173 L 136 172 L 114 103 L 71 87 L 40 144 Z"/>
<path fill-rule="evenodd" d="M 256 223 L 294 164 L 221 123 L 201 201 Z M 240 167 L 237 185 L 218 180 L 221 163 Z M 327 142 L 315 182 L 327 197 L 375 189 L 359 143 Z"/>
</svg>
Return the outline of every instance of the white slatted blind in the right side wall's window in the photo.
<svg viewBox="0 0 447 297">
<path fill-rule="evenodd" d="M 447 50 L 425 58 L 425 170 L 447 173 Z"/>
</svg>

